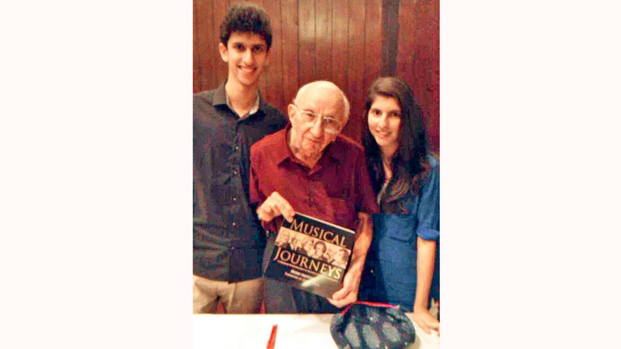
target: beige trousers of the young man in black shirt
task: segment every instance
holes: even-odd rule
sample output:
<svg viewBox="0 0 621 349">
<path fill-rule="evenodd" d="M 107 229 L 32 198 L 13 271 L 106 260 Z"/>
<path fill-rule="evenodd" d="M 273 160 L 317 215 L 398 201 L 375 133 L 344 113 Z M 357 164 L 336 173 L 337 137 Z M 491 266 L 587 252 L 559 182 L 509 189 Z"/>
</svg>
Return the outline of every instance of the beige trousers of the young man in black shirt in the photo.
<svg viewBox="0 0 621 349">
<path fill-rule="evenodd" d="M 227 314 L 253 314 L 261 310 L 263 279 L 229 283 L 193 276 L 194 314 L 215 313 L 221 301 Z"/>
</svg>

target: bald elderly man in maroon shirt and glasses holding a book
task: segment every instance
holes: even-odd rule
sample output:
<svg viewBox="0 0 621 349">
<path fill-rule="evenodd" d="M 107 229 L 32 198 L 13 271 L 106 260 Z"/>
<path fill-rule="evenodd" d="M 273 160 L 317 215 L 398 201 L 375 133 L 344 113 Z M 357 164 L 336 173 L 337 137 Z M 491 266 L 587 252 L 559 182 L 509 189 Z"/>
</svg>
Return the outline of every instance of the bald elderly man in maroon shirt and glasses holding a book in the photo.
<svg viewBox="0 0 621 349">
<path fill-rule="evenodd" d="M 302 86 L 288 106 L 290 124 L 250 150 L 250 202 L 263 227 L 276 232 L 294 211 L 356 230 L 351 264 L 332 297 L 266 280 L 266 312 L 336 312 L 356 301 L 371 242 L 369 214 L 378 212 L 363 148 L 340 135 L 349 117 L 343 91 L 329 81 Z M 274 222 L 274 218 L 279 222 Z M 273 248 L 268 241 L 264 265 Z"/>
</svg>

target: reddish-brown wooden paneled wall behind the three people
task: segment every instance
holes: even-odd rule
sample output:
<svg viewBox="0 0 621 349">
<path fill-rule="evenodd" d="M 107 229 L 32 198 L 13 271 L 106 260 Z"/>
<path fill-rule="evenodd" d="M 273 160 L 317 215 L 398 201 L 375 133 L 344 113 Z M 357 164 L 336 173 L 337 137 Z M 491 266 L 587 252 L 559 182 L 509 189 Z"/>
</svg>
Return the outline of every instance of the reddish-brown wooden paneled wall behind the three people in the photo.
<svg viewBox="0 0 621 349">
<path fill-rule="evenodd" d="M 194 0 L 194 92 L 217 87 L 227 66 L 217 51 L 231 0 Z M 432 150 L 439 152 L 439 0 L 254 0 L 273 27 L 271 58 L 259 87 L 286 110 L 297 89 L 327 79 L 345 91 L 351 117 L 344 134 L 360 140 L 366 90 L 379 76 L 412 86 Z"/>
</svg>

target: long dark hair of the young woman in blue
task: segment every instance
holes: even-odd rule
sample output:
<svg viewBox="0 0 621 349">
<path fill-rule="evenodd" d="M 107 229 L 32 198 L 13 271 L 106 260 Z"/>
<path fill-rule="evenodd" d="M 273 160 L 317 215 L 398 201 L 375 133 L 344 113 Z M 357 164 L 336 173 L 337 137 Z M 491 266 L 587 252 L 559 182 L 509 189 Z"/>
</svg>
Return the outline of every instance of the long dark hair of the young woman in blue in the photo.
<svg viewBox="0 0 621 349">
<path fill-rule="evenodd" d="M 393 97 L 401 108 L 399 148 L 392 158 L 392 179 L 381 198 L 380 206 L 383 212 L 402 212 L 405 210 L 404 202 L 400 202 L 399 199 L 409 191 L 418 194 L 420 179 L 429 170 L 424 117 L 412 88 L 402 79 L 384 77 L 376 79 L 371 84 L 362 118 L 362 143 L 365 146 L 367 168 L 376 195 L 386 179 L 381 151 L 369 131 L 368 124 L 369 110 L 377 96 Z"/>
</svg>

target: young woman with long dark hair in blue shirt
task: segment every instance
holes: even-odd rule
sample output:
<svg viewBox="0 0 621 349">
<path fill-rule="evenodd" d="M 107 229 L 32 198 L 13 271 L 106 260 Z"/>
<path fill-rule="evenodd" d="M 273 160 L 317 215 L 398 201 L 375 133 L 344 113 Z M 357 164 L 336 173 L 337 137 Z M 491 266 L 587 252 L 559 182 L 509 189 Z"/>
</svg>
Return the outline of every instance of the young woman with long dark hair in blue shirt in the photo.
<svg viewBox="0 0 621 349">
<path fill-rule="evenodd" d="M 420 107 L 399 78 L 376 79 L 362 142 L 381 214 L 373 216 L 361 298 L 401 304 L 427 333 L 439 331 L 430 289 L 440 238 L 440 166 L 428 153 Z"/>
</svg>

